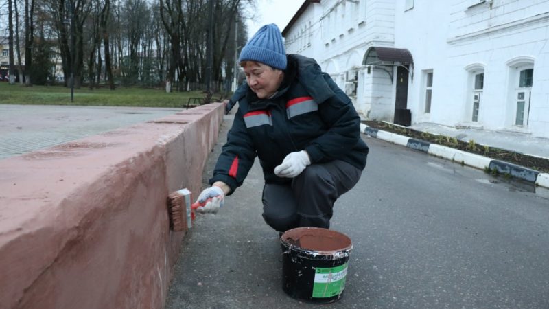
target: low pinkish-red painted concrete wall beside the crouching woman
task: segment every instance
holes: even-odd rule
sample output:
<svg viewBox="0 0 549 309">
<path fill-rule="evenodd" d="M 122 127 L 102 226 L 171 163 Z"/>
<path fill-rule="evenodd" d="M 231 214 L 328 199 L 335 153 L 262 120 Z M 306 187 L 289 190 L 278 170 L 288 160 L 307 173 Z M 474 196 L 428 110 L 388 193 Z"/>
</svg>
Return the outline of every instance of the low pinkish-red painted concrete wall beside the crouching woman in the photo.
<svg viewBox="0 0 549 309">
<path fill-rule="evenodd" d="M 223 104 L 0 161 L 0 308 L 161 308 Z"/>
</svg>

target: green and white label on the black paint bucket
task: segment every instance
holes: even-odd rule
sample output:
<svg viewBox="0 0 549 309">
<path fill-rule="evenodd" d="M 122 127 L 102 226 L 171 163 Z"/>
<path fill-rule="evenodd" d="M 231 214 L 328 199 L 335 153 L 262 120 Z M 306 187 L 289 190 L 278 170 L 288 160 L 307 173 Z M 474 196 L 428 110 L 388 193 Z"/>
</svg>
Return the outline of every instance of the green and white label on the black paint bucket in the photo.
<svg viewBox="0 0 549 309">
<path fill-rule="evenodd" d="M 331 267 L 316 268 L 312 297 L 324 298 L 340 295 L 345 287 L 347 276 L 347 263 Z"/>
</svg>

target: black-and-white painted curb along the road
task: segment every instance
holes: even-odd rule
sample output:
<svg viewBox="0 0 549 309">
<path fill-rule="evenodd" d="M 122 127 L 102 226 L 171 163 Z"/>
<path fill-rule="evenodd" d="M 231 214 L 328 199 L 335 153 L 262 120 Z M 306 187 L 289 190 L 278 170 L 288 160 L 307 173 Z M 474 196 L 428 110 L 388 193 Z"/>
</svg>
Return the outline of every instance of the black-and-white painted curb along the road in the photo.
<svg viewBox="0 0 549 309">
<path fill-rule="evenodd" d="M 384 141 L 389 141 L 393 144 L 406 146 L 414 150 L 428 153 L 429 155 L 452 160 L 454 162 L 469 165 L 480 170 L 484 170 L 486 168 L 489 168 L 490 170 L 495 169 L 501 174 L 510 174 L 514 178 L 521 179 L 522 181 L 539 185 L 540 187 L 549 188 L 548 173 L 541 173 L 537 170 L 531 170 L 530 168 L 524 168 L 519 165 L 491 159 L 489 157 L 476 155 L 474 153 L 465 152 L 447 146 L 431 144 L 428 141 L 421 141 L 419 139 L 389 133 L 376 128 L 371 128 L 366 126 L 366 124 L 360 124 L 360 132 L 377 139 L 383 139 Z"/>
</svg>

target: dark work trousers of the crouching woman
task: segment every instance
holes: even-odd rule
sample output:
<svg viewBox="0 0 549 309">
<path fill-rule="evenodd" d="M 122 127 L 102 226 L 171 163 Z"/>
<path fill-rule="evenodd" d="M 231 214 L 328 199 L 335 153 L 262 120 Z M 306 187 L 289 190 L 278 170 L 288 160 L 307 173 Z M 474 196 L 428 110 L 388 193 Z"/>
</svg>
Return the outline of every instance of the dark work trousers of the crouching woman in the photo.
<svg viewBox="0 0 549 309">
<path fill-rule="evenodd" d="M 329 229 L 336 200 L 358 182 L 362 171 L 336 160 L 312 164 L 291 184 L 266 184 L 263 188 L 263 218 L 283 232 L 294 227 Z"/>
</svg>

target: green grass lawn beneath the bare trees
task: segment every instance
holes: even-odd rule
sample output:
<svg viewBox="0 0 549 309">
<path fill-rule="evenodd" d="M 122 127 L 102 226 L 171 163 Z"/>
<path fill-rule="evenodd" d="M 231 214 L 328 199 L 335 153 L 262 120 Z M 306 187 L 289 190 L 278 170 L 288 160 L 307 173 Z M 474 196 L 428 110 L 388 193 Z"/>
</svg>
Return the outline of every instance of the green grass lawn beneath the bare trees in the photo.
<svg viewBox="0 0 549 309">
<path fill-rule="evenodd" d="M 74 102 L 71 102 L 71 89 L 62 86 L 24 87 L 0 82 L 0 104 L 32 105 L 93 105 L 93 106 L 145 106 L 178 107 L 187 105 L 189 98 L 204 98 L 201 91 L 166 93 L 164 89 L 143 89 L 139 87 L 108 87 L 90 90 L 86 87 L 74 89 Z M 220 94 L 213 95 L 212 102 L 218 101 Z"/>
</svg>

